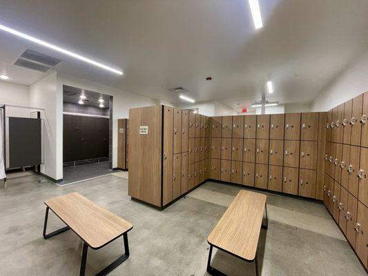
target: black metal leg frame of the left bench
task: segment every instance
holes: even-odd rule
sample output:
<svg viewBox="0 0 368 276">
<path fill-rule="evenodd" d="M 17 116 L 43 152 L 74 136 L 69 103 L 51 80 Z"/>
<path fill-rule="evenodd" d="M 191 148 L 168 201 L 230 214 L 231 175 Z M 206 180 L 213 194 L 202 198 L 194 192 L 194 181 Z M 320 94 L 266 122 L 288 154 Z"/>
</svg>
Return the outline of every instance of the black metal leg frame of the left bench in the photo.
<svg viewBox="0 0 368 276">
<path fill-rule="evenodd" d="M 63 221 L 63 219 L 61 219 L 61 217 L 59 217 L 57 214 L 55 214 L 54 211 L 52 211 L 52 213 L 54 213 L 57 217 L 59 217 L 59 219 L 61 221 L 63 221 L 64 224 L 66 224 L 67 226 L 64 227 L 64 228 L 60 228 L 59 230 L 55 230 L 52 233 L 46 234 L 47 221 L 48 221 L 48 210 L 49 209 L 50 209 L 50 207 L 46 206 L 45 222 L 43 224 L 43 239 L 48 239 L 49 237 L 53 237 L 55 235 L 59 235 L 59 234 L 64 233 L 65 231 L 67 231 L 69 229 L 72 230 L 72 228 L 70 228 L 68 226 L 68 224 L 66 224 L 65 221 Z M 111 264 L 109 264 L 108 266 L 106 266 L 106 268 L 104 268 L 103 270 L 101 270 L 95 276 L 105 276 L 105 275 L 108 275 L 108 273 L 110 273 L 112 270 L 114 270 L 115 268 L 117 268 L 117 266 L 119 266 L 126 259 L 128 259 L 128 257 L 129 257 L 128 231 L 122 233 L 122 235 L 119 235 L 119 236 L 117 236 L 115 238 L 115 239 L 117 239 L 117 238 L 123 236 L 125 253 L 122 256 L 120 256 L 119 258 L 117 258 L 114 262 L 112 262 Z M 75 233 L 74 230 L 73 230 L 73 232 Z M 75 233 L 75 234 L 77 234 L 77 233 Z M 78 234 L 77 234 L 77 236 L 80 237 Z M 110 242 L 113 242 L 115 239 L 110 240 Z M 106 246 L 107 244 L 110 244 L 110 242 L 107 242 L 106 244 L 103 244 L 102 246 L 99 246 L 99 248 L 93 248 L 89 244 L 87 244 L 86 241 L 84 241 L 84 239 L 81 238 L 81 240 L 83 240 L 84 244 L 83 244 L 83 251 L 82 251 L 82 255 L 81 255 L 81 269 L 80 269 L 80 272 L 79 272 L 79 276 L 84 276 L 85 273 L 86 273 L 86 262 L 87 262 L 88 247 L 92 248 L 93 250 L 97 250 L 99 248 L 102 248 L 102 247 Z"/>
</svg>

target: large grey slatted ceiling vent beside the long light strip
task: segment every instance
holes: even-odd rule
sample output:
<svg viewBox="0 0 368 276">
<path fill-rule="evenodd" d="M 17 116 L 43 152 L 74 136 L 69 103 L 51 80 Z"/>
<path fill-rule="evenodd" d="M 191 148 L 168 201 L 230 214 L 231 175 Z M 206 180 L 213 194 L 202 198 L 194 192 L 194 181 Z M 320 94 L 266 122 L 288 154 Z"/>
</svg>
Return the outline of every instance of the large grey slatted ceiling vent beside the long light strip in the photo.
<svg viewBox="0 0 368 276">
<path fill-rule="evenodd" d="M 27 49 L 14 62 L 14 65 L 44 73 L 57 66 L 57 64 L 59 64 L 60 62 L 61 59 L 57 59 L 56 57 L 50 57 L 48 55 L 42 54 L 41 52 Z"/>
</svg>

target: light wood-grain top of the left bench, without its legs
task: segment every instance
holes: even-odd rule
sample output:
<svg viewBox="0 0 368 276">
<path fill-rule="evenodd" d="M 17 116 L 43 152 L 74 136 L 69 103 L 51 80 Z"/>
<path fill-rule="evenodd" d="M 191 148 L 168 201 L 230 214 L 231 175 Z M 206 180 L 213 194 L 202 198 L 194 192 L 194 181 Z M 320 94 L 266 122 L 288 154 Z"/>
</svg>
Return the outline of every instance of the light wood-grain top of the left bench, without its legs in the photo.
<svg viewBox="0 0 368 276">
<path fill-rule="evenodd" d="M 47 199 L 45 204 L 91 248 L 101 248 L 133 228 L 130 222 L 78 193 Z"/>
</svg>

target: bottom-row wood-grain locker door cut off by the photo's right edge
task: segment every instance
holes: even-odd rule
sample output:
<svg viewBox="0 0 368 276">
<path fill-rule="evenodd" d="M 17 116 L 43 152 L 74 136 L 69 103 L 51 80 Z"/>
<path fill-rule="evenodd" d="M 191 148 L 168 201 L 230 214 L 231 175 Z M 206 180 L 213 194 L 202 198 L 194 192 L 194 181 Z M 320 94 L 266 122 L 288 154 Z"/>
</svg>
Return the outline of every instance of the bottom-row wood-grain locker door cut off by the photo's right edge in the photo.
<svg viewBox="0 0 368 276">
<path fill-rule="evenodd" d="M 368 208 L 358 201 L 358 217 L 356 219 L 356 254 L 368 266 Z"/>
</svg>

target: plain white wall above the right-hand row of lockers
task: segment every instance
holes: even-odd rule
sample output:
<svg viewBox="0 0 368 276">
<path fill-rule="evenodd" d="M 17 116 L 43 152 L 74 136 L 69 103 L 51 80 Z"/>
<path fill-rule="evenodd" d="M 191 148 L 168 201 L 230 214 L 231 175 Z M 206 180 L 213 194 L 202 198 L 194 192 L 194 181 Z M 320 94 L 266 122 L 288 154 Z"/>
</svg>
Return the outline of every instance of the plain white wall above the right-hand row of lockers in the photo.
<svg viewBox="0 0 368 276">
<path fill-rule="evenodd" d="M 368 51 L 314 99 L 312 111 L 327 111 L 368 91 Z"/>
</svg>

